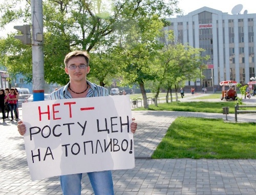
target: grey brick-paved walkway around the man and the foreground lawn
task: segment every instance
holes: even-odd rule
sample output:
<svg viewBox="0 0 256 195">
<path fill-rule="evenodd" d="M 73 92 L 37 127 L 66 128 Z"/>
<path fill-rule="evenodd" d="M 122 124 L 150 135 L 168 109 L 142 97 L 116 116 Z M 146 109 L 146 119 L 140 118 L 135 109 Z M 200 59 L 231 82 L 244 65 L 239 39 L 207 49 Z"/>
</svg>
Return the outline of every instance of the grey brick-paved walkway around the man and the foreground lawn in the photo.
<svg viewBox="0 0 256 195">
<path fill-rule="evenodd" d="M 138 122 L 134 136 L 135 168 L 113 171 L 115 194 L 256 194 L 256 160 L 150 159 L 169 125 L 178 117 L 223 118 L 223 114 L 132 111 Z M 239 121 L 254 121 L 243 114 Z M 228 115 L 234 121 L 234 115 Z M 0 195 L 62 194 L 58 177 L 30 180 L 24 140 L 16 122 L 0 122 Z M 82 194 L 93 194 L 83 175 Z"/>
</svg>

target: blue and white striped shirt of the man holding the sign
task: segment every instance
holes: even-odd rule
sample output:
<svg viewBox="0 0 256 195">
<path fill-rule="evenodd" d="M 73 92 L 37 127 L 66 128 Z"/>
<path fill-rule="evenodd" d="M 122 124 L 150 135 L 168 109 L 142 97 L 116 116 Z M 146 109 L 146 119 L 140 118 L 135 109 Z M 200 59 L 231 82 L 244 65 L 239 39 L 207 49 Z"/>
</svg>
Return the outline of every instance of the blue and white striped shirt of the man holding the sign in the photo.
<svg viewBox="0 0 256 195">
<path fill-rule="evenodd" d="M 87 93 L 86 97 L 99 97 L 99 96 L 109 96 L 109 91 L 103 86 L 99 86 L 95 83 L 91 83 L 90 81 L 87 80 L 87 83 L 90 85 L 90 89 Z M 72 96 L 70 92 L 68 91 L 70 82 L 62 86 L 62 88 L 52 92 L 49 96 L 50 100 L 55 100 L 55 99 L 71 99 Z"/>
</svg>

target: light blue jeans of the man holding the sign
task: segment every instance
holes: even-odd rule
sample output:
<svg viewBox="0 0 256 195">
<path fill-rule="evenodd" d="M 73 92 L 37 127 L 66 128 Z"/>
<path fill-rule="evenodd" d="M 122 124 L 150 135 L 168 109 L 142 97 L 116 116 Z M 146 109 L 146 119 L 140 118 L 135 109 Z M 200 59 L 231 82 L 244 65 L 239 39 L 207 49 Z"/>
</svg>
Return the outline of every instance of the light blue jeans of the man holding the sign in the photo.
<svg viewBox="0 0 256 195">
<path fill-rule="evenodd" d="M 111 170 L 88 172 L 95 195 L 114 195 L 114 185 Z M 63 195 L 81 194 L 82 174 L 60 176 L 60 185 Z"/>
</svg>

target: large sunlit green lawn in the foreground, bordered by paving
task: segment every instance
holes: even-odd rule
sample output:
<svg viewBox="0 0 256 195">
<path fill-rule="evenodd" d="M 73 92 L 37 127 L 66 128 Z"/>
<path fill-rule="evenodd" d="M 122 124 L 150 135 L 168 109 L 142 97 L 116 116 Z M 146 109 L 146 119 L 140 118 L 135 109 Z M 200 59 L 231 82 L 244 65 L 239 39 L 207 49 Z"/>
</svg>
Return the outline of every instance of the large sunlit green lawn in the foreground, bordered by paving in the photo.
<svg viewBox="0 0 256 195">
<path fill-rule="evenodd" d="M 152 158 L 256 159 L 255 132 L 255 123 L 179 117 Z"/>
</svg>

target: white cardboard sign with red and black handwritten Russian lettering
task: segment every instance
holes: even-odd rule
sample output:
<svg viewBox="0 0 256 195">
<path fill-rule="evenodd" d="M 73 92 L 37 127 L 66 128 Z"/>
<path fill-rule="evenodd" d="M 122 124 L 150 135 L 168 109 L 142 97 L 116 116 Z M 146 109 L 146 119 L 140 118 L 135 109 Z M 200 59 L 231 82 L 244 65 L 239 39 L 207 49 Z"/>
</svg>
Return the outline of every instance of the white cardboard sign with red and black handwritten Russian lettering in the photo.
<svg viewBox="0 0 256 195">
<path fill-rule="evenodd" d="M 129 96 L 23 103 L 32 181 L 134 168 Z"/>
</svg>

